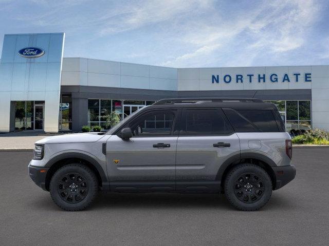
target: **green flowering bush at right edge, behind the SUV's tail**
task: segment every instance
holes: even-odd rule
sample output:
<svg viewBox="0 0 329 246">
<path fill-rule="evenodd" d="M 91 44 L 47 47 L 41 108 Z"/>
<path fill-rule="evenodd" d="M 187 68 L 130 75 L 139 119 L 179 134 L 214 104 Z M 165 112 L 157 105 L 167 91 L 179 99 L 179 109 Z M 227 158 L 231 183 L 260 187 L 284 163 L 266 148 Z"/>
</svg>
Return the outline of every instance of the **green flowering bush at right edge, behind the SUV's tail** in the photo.
<svg viewBox="0 0 329 246">
<path fill-rule="evenodd" d="M 308 130 L 292 139 L 293 144 L 329 145 L 329 132 L 321 129 Z"/>
</svg>

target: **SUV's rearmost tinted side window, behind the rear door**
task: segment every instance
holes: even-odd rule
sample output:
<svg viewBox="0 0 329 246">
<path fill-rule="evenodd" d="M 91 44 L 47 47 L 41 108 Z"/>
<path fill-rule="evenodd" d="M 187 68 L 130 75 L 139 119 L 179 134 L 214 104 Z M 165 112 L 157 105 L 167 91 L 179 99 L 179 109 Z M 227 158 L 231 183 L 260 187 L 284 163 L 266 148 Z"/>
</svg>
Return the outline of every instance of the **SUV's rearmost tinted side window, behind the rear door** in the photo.
<svg viewBox="0 0 329 246">
<path fill-rule="evenodd" d="M 224 110 L 236 132 L 279 132 L 272 110 Z"/>
</svg>

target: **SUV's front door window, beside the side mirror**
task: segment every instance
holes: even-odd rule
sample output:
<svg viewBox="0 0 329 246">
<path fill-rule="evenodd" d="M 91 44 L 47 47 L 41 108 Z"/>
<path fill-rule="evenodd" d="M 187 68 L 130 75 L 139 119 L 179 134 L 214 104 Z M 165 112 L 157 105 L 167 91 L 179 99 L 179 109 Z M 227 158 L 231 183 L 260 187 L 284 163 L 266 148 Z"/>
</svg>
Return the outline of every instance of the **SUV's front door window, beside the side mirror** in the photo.
<svg viewBox="0 0 329 246">
<path fill-rule="evenodd" d="M 159 110 L 138 117 L 128 127 L 134 136 L 171 135 L 174 118 L 173 111 Z"/>
</svg>

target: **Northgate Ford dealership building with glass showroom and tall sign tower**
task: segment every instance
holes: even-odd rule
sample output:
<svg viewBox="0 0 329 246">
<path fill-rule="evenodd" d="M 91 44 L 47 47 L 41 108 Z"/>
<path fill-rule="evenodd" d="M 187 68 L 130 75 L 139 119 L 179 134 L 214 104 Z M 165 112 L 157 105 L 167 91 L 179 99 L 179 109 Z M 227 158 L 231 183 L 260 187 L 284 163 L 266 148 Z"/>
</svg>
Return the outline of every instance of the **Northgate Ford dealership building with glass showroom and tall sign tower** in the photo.
<svg viewBox="0 0 329 246">
<path fill-rule="evenodd" d="M 156 100 L 185 97 L 259 98 L 278 106 L 287 131 L 329 130 L 329 66 L 169 68 L 63 57 L 64 38 L 5 35 L 0 132 L 106 128 L 101 116 L 113 111 L 124 118 Z"/>
</svg>

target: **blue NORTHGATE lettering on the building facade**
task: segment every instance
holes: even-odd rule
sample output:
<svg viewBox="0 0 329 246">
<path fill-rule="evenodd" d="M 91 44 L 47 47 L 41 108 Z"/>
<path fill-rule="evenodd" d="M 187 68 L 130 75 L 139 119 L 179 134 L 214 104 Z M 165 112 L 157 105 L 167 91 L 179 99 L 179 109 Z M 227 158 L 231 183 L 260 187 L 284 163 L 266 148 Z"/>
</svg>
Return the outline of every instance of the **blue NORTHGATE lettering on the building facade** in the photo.
<svg viewBox="0 0 329 246">
<path fill-rule="evenodd" d="M 265 76 L 265 74 L 257 74 L 258 76 L 254 76 L 254 74 L 247 74 L 247 78 L 245 78 L 246 81 L 248 81 L 249 83 L 252 82 L 252 78 L 255 77 L 255 78 L 258 78 L 258 83 L 265 83 L 266 82 L 266 79 L 268 78 L 269 81 L 271 83 L 277 83 L 279 81 L 278 79 L 278 74 L 276 73 L 272 73 L 271 75 L 269 75 L 268 77 Z M 293 74 L 293 81 L 295 82 L 299 82 L 301 81 L 302 79 L 304 80 L 304 82 L 312 82 L 312 74 L 311 73 L 304 73 L 304 76 L 301 75 L 300 73 L 294 73 Z M 234 78 L 234 76 L 233 76 Z M 212 84 L 214 83 L 220 83 L 220 75 L 212 75 L 211 77 L 211 80 L 212 80 Z M 242 74 L 236 74 L 235 75 L 235 82 L 236 83 L 243 83 L 243 75 Z M 280 79 L 281 80 L 281 79 Z M 223 76 L 223 81 L 225 83 L 231 83 L 232 81 L 232 76 L 230 74 L 226 74 Z M 287 73 L 283 74 L 282 76 L 282 80 L 281 82 L 290 82 L 290 77 Z"/>
</svg>

